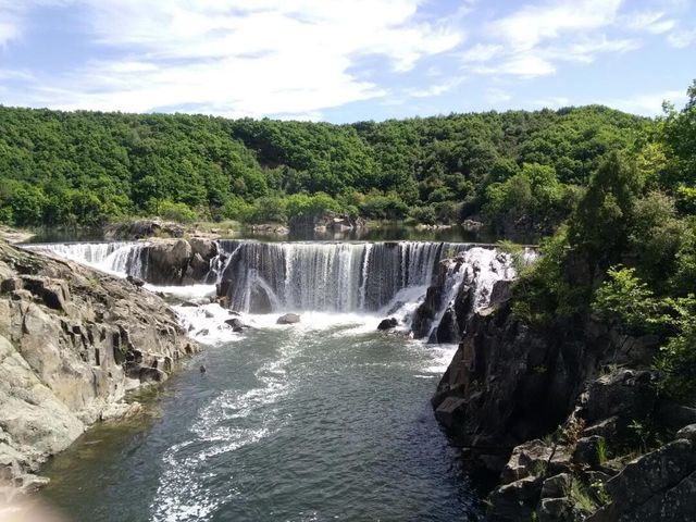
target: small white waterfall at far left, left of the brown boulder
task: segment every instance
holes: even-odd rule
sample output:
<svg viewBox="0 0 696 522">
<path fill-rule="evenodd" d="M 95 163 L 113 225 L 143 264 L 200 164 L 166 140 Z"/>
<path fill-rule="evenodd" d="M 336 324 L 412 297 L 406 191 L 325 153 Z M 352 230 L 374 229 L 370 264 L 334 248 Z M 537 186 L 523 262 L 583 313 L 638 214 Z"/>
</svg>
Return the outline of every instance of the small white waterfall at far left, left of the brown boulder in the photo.
<svg viewBox="0 0 696 522">
<path fill-rule="evenodd" d="M 37 252 L 70 259 L 113 275 L 144 277 L 147 243 L 66 243 L 27 245 Z"/>
</svg>

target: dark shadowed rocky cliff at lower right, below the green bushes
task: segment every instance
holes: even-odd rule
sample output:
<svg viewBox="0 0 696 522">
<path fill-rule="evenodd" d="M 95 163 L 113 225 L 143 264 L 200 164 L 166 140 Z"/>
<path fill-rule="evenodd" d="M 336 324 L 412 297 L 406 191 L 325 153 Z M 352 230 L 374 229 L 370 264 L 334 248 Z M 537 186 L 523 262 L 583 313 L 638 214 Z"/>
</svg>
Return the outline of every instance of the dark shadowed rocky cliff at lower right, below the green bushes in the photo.
<svg viewBox="0 0 696 522">
<path fill-rule="evenodd" d="M 534 330 L 500 295 L 460 318 L 433 398 L 467 462 L 494 478 L 487 520 L 695 520 L 696 410 L 659 396 L 657 338 L 593 318 Z"/>
</svg>

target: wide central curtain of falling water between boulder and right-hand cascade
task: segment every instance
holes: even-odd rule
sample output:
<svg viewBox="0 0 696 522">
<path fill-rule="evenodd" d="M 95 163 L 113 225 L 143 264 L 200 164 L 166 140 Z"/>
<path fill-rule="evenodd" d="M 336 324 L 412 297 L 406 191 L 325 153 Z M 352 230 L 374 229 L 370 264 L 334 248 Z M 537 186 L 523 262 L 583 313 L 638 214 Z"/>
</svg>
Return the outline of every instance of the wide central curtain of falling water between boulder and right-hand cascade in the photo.
<svg viewBox="0 0 696 522">
<path fill-rule="evenodd" d="M 239 311 L 377 311 L 400 290 L 427 287 L 443 256 L 469 248 L 443 243 L 220 241 L 217 279 Z M 274 306 L 275 303 L 275 306 Z"/>
</svg>

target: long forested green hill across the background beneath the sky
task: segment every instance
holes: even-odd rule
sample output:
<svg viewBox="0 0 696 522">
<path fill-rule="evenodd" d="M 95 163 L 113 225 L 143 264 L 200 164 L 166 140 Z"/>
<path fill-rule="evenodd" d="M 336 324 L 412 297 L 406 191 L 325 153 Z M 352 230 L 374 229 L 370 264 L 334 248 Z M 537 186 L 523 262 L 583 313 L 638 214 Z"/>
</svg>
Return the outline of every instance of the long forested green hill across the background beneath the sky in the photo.
<svg viewBox="0 0 696 522">
<path fill-rule="evenodd" d="M 373 219 L 549 229 L 599 159 L 641 154 L 649 120 L 591 105 L 351 125 L 0 107 L 0 222 L 124 215 Z"/>
</svg>

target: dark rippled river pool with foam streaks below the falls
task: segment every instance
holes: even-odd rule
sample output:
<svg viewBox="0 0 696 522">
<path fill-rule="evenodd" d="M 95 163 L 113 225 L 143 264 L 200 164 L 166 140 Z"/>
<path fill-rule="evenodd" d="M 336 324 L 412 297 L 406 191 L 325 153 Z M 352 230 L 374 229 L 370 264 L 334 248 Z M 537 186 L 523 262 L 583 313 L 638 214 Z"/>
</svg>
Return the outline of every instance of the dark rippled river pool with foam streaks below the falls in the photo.
<svg viewBox="0 0 696 522">
<path fill-rule="evenodd" d="M 80 522 L 474 520 L 428 403 L 452 348 L 375 321 L 266 321 L 208 348 L 160 388 L 158 415 L 58 456 L 44 497 Z"/>
</svg>

